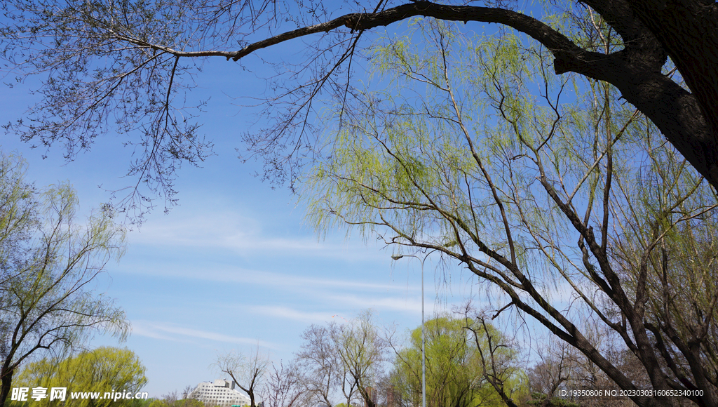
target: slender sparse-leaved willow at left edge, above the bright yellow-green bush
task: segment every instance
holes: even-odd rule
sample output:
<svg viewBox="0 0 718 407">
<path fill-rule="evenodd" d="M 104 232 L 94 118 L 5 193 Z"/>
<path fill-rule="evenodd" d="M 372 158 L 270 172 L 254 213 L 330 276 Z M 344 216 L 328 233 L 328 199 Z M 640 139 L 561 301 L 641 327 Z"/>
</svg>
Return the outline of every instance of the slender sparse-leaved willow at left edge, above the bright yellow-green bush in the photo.
<svg viewBox="0 0 718 407">
<path fill-rule="evenodd" d="M 0 156 L 0 406 L 32 358 L 81 349 L 93 332 L 129 333 L 122 309 L 93 289 L 125 231 L 109 210 L 80 225 L 77 206 L 69 185 L 39 191 L 21 159 Z"/>
</svg>

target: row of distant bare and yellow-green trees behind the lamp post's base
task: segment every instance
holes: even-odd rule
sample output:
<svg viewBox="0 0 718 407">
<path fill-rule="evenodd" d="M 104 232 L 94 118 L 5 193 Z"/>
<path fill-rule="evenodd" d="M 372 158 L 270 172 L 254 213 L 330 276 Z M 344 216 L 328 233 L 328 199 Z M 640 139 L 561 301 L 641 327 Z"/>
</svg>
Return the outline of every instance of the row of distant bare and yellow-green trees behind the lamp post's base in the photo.
<svg viewBox="0 0 718 407">
<path fill-rule="evenodd" d="M 635 405 L 567 344 L 539 339 L 526 351 L 519 346 L 525 341 L 490 321 L 468 304 L 426 321 L 427 407 Z M 608 331 L 596 331 L 595 346 L 615 347 L 609 337 Z M 302 339 L 286 365 L 257 351 L 220 357 L 223 371 L 245 387 L 253 383 L 253 400 L 264 407 L 421 406 L 421 326 L 403 336 L 378 326 L 365 311 L 350 321 L 309 326 Z M 635 355 L 609 353 L 611 362 L 632 372 L 635 383 L 651 387 Z M 598 390 L 602 395 L 595 395 Z"/>
</svg>

